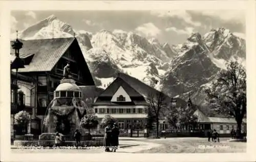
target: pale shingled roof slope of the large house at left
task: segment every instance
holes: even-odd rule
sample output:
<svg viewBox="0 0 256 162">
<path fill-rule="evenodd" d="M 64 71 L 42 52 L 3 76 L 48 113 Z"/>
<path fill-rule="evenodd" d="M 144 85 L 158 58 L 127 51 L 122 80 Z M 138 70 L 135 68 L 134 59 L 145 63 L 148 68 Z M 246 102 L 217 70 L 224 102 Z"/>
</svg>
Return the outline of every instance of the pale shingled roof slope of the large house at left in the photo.
<svg viewBox="0 0 256 162">
<path fill-rule="evenodd" d="M 66 52 L 76 38 L 53 38 L 23 40 L 23 48 L 19 50 L 19 57 L 25 58 L 34 54 L 33 59 L 26 68 L 19 72 L 44 72 L 51 71 L 60 57 Z M 11 55 L 14 55 L 11 48 Z"/>
</svg>

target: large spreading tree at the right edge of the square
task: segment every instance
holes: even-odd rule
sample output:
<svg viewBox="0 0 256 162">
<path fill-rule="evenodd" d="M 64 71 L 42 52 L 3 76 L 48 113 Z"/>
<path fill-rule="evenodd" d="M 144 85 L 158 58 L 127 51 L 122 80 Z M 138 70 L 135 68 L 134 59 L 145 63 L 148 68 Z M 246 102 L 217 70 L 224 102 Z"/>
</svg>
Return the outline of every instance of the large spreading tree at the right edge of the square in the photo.
<svg viewBox="0 0 256 162">
<path fill-rule="evenodd" d="M 214 84 L 206 89 L 207 100 L 219 113 L 233 116 L 237 121 L 237 136 L 246 114 L 246 70 L 238 62 L 230 62 Z"/>
</svg>

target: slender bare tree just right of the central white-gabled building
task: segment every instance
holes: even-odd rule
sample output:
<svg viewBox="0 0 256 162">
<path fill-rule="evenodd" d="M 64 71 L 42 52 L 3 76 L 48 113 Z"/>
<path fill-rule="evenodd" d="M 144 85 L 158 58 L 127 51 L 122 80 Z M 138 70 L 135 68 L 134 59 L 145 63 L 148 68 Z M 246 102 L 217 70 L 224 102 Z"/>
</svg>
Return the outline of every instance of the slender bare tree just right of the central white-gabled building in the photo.
<svg viewBox="0 0 256 162">
<path fill-rule="evenodd" d="M 157 137 L 159 131 L 159 118 L 163 110 L 166 109 L 166 96 L 162 92 L 157 92 L 156 94 L 148 95 L 147 101 L 150 103 L 149 108 L 152 110 L 152 114 L 155 117 L 156 126 L 157 126 Z"/>
</svg>

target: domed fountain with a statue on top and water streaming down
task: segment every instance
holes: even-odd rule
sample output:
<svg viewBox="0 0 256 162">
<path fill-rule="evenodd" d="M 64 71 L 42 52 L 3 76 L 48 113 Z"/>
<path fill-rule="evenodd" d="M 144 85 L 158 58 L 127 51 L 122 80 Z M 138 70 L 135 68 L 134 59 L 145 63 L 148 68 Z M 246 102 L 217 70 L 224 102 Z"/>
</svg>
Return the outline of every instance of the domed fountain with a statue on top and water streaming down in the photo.
<svg viewBox="0 0 256 162">
<path fill-rule="evenodd" d="M 82 92 L 71 78 L 69 64 L 63 71 L 64 78 L 54 91 L 54 99 L 48 105 L 42 133 L 59 132 L 73 136 L 80 130 L 80 120 L 88 112 L 88 106 L 82 101 Z"/>
</svg>

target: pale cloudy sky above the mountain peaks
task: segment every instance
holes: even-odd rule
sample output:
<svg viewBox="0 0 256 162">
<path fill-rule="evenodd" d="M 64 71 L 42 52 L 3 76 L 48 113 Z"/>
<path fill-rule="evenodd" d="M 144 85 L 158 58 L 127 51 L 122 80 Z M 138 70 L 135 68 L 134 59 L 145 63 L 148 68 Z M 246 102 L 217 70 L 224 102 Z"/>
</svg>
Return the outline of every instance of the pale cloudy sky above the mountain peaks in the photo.
<svg viewBox="0 0 256 162">
<path fill-rule="evenodd" d="M 50 15 L 67 22 L 76 31 L 132 31 L 169 44 L 183 43 L 191 33 L 203 35 L 221 27 L 245 37 L 243 10 L 12 11 L 11 33 L 22 31 Z"/>
</svg>

